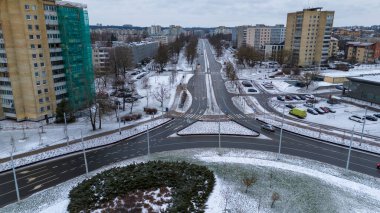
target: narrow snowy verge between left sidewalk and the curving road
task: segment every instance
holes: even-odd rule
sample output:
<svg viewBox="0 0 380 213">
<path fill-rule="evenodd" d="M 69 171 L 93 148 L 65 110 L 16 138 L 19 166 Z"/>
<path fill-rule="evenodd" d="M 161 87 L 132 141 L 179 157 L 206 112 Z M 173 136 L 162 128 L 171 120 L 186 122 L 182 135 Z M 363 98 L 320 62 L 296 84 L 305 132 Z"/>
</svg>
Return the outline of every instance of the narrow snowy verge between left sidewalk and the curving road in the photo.
<svg viewBox="0 0 380 213">
<path fill-rule="evenodd" d="M 82 143 L 70 144 L 69 146 L 49 150 L 49 151 L 46 151 L 43 153 L 34 154 L 34 155 L 30 155 L 30 156 L 23 157 L 23 158 L 18 158 L 18 159 L 14 160 L 14 165 L 15 165 L 15 167 L 24 166 L 24 165 L 28 165 L 28 164 L 31 164 L 34 162 L 41 161 L 41 160 L 61 156 L 61 155 L 72 153 L 72 152 L 81 151 L 83 149 L 83 146 L 85 149 L 90 149 L 90 148 L 94 148 L 94 147 L 98 147 L 98 146 L 103 146 L 103 145 L 115 143 L 115 142 L 118 142 L 118 141 L 123 140 L 125 138 L 129 138 L 129 137 L 132 137 L 134 135 L 143 133 L 147 130 L 147 127 L 149 127 L 149 129 L 155 128 L 155 127 L 157 127 L 161 124 L 164 124 L 168 121 L 170 121 L 170 119 L 168 119 L 168 118 L 157 119 L 154 121 L 150 121 L 150 122 L 146 123 L 145 125 L 137 126 L 133 129 L 124 130 L 121 132 L 121 134 L 119 134 L 119 132 L 116 132 L 116 133 L 113 133 L 110 135 L 86 140 L 86 141 L 84 141 L 83 144 Z M 5 170 L 9 170 L 11 168 L 12 168 L 12 164 L 10 161 L 0 163 L 0 172 L 5 171 Z"/>
</svg>

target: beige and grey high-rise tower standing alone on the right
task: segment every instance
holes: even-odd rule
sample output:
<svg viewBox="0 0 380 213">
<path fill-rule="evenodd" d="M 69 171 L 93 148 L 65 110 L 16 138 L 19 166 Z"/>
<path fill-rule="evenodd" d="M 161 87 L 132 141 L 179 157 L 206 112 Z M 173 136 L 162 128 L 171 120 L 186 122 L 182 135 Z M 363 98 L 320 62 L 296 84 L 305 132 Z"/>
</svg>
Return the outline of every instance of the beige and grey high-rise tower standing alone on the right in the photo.
<svg viewBox="0 0 380 213">
<path fill-rule="evenodd" d="M 288 13 L 285 50 L 295 65 L 316 66 L 328 59 L 334 13 L 321 7 Z"/>
</svg>

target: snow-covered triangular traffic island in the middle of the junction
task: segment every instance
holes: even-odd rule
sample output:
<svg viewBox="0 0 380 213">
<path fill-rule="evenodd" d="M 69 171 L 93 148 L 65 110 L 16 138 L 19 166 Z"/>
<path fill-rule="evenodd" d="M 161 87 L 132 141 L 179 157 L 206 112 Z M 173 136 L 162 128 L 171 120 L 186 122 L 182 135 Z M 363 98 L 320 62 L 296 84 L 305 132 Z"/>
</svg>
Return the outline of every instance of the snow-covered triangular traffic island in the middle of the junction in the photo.
<svg viewBox="0 0 380 213">
<path fill-rule="evenodd" d="M 197 121 L 185 129 L 179 131 L 178 135 L 217 135 L 219 134 L 219 122 Z M 259 136 L 252 131 L 233 121 L 220 122 L 220 134 L 222 135 L 245 135 Z"/>
</svg>

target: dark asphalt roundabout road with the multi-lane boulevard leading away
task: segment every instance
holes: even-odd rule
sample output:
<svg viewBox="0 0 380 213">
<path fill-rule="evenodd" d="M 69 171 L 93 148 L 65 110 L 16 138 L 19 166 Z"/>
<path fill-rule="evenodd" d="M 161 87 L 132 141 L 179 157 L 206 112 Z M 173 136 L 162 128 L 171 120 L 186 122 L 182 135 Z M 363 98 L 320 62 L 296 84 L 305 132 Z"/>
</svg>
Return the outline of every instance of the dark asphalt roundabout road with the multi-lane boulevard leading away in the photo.
<svg viewBox="0 0 380 213">
<path fill-rule="evenodd" d="M 161 152 L 188 148 L 218 147 L 218 137 L 186 136 L 169 137 L 178 130 L 196 121 L 198 116 L 208 108 L 206 75 L 211 75 L 213 92 L 221 112 L 234 121 L 261 132 L 260 123 L 242 114 L 233 104 L 234 96 L 227 92 L 221 77 L 221 65 L 215 60 L 211 47 L 206 40 L 200 40 L 201 54 L 198 59 L 201 68 L 195 71 L 194 77 L 188 83 L 193 103 L 190 109 L 181 117 L 176 117 L 169 123 L 150 131 L 150 152 Z M 197 116 L 198 115 L 198 116 Z M 222 136 L 222 147 L 240 148 L 277 152 L 279 146 L 279 131 L 264 133 L 268 139 Z M 283 133 L 282 153 L 345 167 L 348 156 L 347 147 L 324 143 L 290 132 Z M 89 170 L 93 171 L 117 161 L 130 159 L 147 154 L 146 135 L 139 135 L 119 143 L 89 150 L 87 160 Z M 374 177 L 380 177 L 375 163 L 380 155 L 354 150 L 351 153 L 350 169 Z M 85 173 L 84 159 L 81 153 L 59 157 L 22 168 L 17 168 L 18 185 L 21 198 L 30 196 L 43 189 L 83 175 Z M 11 171 L 0 174 L 0 206 L 17 200 L 13 175 Z"/>
</svg>

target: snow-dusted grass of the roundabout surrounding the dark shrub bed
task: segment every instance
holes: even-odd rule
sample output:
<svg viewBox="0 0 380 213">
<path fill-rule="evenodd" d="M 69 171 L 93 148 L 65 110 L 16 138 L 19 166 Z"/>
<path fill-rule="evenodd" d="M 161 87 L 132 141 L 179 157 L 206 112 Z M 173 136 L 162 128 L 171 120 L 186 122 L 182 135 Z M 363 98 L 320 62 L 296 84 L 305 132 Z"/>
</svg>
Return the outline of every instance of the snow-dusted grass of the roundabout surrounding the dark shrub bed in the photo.
<svg viewBox="0 0 380 213">
<path fill-rule="evenodd" d="M 278 161 L 277 157 L 281 160 Z M 146 161 L 134 158 L 91 172 Z M 268 152 L 191 149 L 153 154 L 150 160 L 188 161 L 205 165 L 216 175 L 206 213 L 230 212 L 380 212 L 380 179 L 298 157 Z M 248 188 L 242 179 L 256 177 Z M 6 213 L 66 213 L 68 193 L 84 176 L 38 192 L 19 204 L 0 209 Z M 271 195 L 280 199 L 271 208 Z"/>
</svg>

